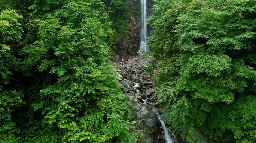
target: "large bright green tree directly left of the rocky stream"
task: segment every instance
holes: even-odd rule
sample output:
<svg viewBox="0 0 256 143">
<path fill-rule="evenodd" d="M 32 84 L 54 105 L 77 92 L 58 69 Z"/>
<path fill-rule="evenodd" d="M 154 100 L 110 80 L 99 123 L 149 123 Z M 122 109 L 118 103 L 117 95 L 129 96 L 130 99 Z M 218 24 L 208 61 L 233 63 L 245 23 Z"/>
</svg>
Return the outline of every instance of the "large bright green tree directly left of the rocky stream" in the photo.
<svg viewBox="0 0 256 143">
<path fill-rule="evenodd" d="M 33 106 L 55 139 L 41 130 L 41 140 L 29 142 L 135 142 L 129 107 L 108 62 L 106 40 L 112 31 L 103 4 L 70 1 L 36 23 L 38 40 L 20 54 L 27 75 L 44 78 Z"/>
</svg>

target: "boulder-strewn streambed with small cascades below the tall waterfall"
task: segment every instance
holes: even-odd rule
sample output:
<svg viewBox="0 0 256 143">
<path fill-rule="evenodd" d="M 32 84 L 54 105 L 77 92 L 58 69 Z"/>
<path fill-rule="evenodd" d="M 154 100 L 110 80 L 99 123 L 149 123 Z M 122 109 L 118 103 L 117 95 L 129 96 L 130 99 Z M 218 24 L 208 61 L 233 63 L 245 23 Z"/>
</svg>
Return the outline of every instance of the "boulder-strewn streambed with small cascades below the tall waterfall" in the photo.
<svg viewBox="0 0 256 143">
<path fill-rule="evenodd" d="M 145 73 L 148 62 L 148 58 L 135 62 L 135 57 L 131 56 L 127 66 L 114 64 L 119 69 L 119 82 L 125 87 L 123 92 L 131 108 L 129 119 L 135 121 L 132 131 L 139 132 L 137 143 L 177 143 L 159 116 L 158 107 L 165 101 L 157 101 L 153 96 L 154 77 Z"/>
</svg>

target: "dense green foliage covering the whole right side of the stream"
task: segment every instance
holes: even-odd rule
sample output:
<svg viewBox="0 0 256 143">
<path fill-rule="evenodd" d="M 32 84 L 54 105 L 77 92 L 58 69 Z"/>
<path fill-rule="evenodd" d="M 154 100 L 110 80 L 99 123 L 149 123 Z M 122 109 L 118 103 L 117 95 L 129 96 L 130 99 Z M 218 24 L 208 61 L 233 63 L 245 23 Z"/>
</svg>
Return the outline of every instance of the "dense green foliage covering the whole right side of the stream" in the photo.
<svg viewBox="0 0 256 143">
<path fill-rule="evenodd" d="M 191 142 L 256 142 L 255 1 L 155 2 L 149 45 L 171 128 Z"/>
</svg>

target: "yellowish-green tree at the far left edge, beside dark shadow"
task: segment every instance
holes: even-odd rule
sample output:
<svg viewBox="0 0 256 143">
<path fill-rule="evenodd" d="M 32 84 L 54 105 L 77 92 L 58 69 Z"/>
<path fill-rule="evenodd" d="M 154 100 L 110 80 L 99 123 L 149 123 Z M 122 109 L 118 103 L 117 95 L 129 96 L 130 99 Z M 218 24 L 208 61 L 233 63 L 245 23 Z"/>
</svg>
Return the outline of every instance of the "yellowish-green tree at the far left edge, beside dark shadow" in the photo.
<svg viewBox="0 0 256 143">
<path fill-rule="evenodd" d="M 2 10 L 0 12 L 0 91 L 9 83 L 13 69 L 17 65 L 15 43 L 22 37 L 20 16 L 15 10 Z"/>
</svg>

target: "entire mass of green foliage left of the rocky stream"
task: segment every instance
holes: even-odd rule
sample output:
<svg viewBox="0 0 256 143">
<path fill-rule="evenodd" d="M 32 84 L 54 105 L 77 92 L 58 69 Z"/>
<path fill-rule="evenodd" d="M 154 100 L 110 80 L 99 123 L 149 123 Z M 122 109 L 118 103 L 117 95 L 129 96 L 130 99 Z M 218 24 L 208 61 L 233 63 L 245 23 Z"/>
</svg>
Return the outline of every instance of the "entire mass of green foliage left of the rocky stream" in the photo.
<svg viewBox="0 0 256 143">
<path fill-rule="evenodd" d="M 0 142 L 135 142 L 103 2 L 1 4 Z"/>
</svg>

